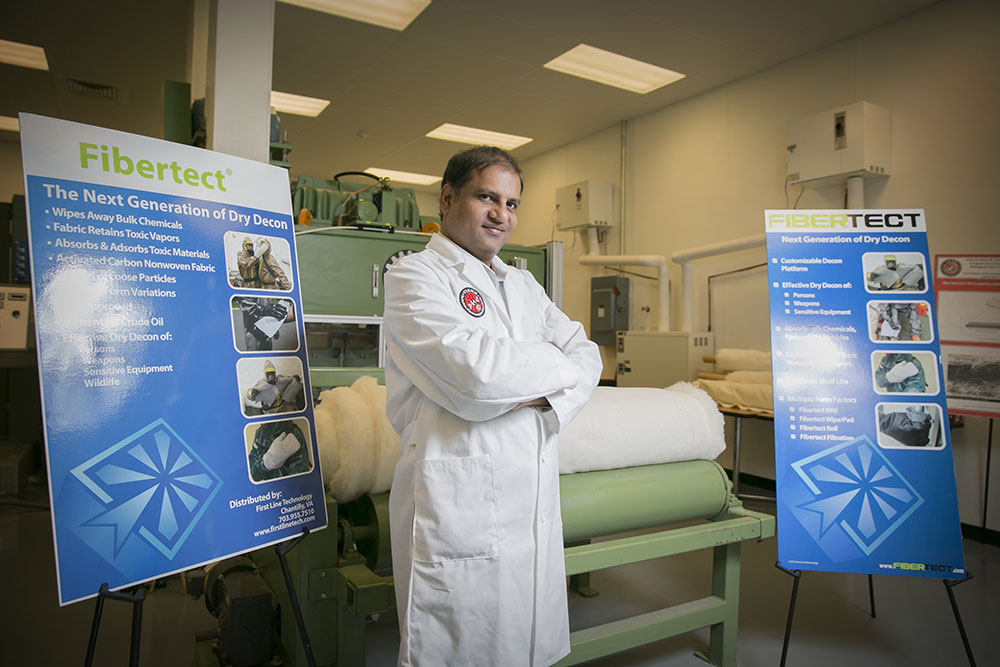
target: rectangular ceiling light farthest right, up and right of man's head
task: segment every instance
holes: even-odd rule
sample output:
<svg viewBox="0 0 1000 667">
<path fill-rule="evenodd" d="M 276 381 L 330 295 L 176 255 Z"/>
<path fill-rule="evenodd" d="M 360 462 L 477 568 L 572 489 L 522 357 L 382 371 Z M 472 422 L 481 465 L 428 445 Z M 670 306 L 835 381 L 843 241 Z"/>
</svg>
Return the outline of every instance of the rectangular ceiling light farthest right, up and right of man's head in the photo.
<svg viewBox="0 0 1000 667">
<path fill-rule="evenodd" d="M 641 95 L 684 78 L 679 72 L 587 44 L 574 46 L 545 67 Z"/>
</svg>

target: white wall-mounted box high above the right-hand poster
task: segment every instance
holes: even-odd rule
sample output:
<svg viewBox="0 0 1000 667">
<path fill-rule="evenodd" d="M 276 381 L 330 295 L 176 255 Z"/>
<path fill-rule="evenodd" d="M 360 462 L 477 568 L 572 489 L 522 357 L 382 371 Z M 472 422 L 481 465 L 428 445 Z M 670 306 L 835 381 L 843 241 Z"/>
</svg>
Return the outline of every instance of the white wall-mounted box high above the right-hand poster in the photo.
<svg viewBox="0 0 1000 667">
<path fill-rule="evenodd" d="M 810 188 L 888 176 L 889 110 L 855 102 L 788 125 L 788 181 Z"/>
</svg>

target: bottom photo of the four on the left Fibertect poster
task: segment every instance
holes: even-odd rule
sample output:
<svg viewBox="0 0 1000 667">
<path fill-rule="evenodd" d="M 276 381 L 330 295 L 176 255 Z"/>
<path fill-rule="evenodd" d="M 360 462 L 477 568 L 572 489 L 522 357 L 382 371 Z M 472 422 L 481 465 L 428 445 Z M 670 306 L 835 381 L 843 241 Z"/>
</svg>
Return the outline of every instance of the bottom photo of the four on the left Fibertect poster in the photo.
<svg viewBox="0 0 1000 667">
<path fill-rule="evenodd" d="M 305 419 L 286 419 L 248 426 L 248 440 L 251 440 L 252 433 L 247 455 L 250 479 L 264 482 L 312 470 L 309 441 L 305 436 L 308 428 L 309 423 Z"/>
</svg>

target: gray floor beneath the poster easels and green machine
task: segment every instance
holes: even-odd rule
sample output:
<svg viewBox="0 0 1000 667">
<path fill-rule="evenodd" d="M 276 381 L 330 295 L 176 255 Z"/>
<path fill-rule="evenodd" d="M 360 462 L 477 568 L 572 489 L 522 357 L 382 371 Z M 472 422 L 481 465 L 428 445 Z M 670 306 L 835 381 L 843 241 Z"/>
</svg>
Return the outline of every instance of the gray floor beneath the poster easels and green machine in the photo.
<svg viewBox="0 0 1000 667">
<path fill-rule="evenodd" d="M 42 490 L 32 499 L 45 500 Z M 768 511 L 773 505 L 748 503 Z M 743 545 L 739 664 L 777 665 L 792 579 L 774 567 L 775 539 Z M 1000 549 L 965 541 L 967 569 L 974 578 L 954 588 L 979 665 L 1000 664 Z M 47 511 L 0 505 L 0 571 L 7 599 L 0 611 L 0 664 L 82 664 L 94 603 L 60 608 Z M 604 623 L 702 597 L 711 585 L 710 552 L 595 573 L 595 598 L 570 598 L 573 629 Z M 804 573 L 787 664 L 823 667 L 940 667 L 968 664 L 943 584 L 937 580 L 875 578 L 877 618 L 868 610 L 867 578 Z M 148 594 L 144 604 L 144 666 L 191 665 L 194 633 L 216 625 L 203 600 L 185 597 L 174 577 Z M 108 602 L 94 665 L 126 665 L 131 611 Z M 368 624 L 368 662 L 395 664 L 394 614 Z M 707 650 L 708 631 L 697 631 L 612 656 L 592 665 L 703 665 L 695 651 Z"/>
</svg>

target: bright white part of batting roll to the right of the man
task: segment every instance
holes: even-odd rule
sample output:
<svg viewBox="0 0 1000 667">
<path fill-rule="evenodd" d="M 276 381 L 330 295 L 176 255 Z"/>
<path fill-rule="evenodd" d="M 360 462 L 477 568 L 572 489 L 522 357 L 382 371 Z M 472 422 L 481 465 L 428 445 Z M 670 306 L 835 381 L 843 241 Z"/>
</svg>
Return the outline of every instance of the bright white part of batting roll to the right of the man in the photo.
<svg viewBox="0 0 1000 667">
<path fill-rule="evenodd" d="M 726 448 L 715 402 L 686 382 L 598 387 L 559 435 L 559 472 L 712 460 Z"/>
</svg>

